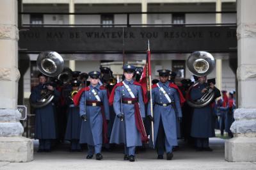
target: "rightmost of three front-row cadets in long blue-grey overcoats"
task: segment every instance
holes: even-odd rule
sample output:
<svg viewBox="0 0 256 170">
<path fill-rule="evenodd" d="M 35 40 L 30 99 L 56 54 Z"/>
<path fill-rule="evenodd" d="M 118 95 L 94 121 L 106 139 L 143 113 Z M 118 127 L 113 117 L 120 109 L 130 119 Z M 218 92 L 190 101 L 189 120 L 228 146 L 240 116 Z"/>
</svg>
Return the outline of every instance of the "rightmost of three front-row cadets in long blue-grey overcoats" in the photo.
<svg viewBox="0 0 256 170">
<path fill-rule="evenodd" d="M 176 114 L 182 118 L 180 98 L 184 100 L 178 88 L 173 88 L 173 83 L 168 81 L 170 70 L 157 70 L 160 82 L 152 86 L 152 104 L 154 118 L 148 105 L 148 118 L 154 121 L 154 148 L 157 149 L 158 159 L 163 159 L 164 147 L 166 159 L 172 160 L 173 146 L 177 146 Z M 180 96 L 180 97 L 179 97 Z M 174 109 L 175 105 L 175 109 Z"/>
</svg>

